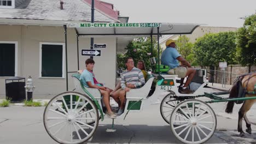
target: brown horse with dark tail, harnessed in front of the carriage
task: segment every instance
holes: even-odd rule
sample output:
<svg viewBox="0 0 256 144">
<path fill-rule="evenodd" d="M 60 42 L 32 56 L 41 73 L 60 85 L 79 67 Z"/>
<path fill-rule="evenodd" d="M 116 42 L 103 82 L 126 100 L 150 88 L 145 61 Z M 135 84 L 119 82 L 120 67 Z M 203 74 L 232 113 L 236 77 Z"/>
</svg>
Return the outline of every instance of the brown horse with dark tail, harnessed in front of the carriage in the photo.
<svg viewBox="0 0 256 144">
<path fill-rule="evenodd" d="M 238 76 L 235 80 L 232 88 L 230 89 L 229 98 L 237 98 L 238 95 L 238 87 L 239 85 L 243 88 L 243 94 L 245 94 L 245 97 L 256 97 L 255 94 L 255 88 L 254 86 L 256 83 L 256 72 L 245 74 Z M 254 93 L 252 93 L 254 92 Z M 241 94 L 241 92 L 239 92 Z M 245 132 L 242 130 L 242 119 L 245 119 L 246 122 L 246 132 L 248 134 L 252 134 L 252 128 L 251 128 L 251 122 L 249 122 L 249 119 L 246 116 L 247 111 L 249 111 L 252 107 L 252 105 L 256 102 L 256 99 L 250 99 L 243 101 L 243 105 L 240 108 L 238 112 L 238 125 L 237 125 L 237 131 L 240 133 L 239 136 L 245 136 Z M 226 113 L 232 113 L 233 107 L 234 107 L 235 101 L 229 101 L 226 105 Z"/>
</svg>

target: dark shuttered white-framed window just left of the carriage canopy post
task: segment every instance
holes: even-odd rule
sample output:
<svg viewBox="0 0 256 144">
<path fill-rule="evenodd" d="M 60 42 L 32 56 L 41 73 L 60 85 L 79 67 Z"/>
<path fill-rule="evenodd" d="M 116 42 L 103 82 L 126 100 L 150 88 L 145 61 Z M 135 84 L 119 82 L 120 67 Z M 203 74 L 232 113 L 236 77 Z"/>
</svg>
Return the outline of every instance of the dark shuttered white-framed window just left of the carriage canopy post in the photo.
<svg viewBox="0 0 256 144">
<path fill-rule="evenodd" d="M 40 77 L 65 77 L 65 45 L 40 43 Z"/>
</svg>

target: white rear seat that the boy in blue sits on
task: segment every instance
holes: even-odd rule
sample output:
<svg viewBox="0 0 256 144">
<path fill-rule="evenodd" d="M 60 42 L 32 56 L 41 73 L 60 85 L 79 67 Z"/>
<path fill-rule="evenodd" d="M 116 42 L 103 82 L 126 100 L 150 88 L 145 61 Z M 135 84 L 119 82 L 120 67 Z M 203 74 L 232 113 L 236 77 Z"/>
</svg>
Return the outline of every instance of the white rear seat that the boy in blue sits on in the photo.
<svg viewBox="0 0 256 144">
<path fill-rule="evenodd" d="M 75 86 L 75 90 L 74 91 L 77 91 L 77 92 L 80 92 L 80 93 L 86 93 L 81 85 L 81 82 L 80 82 L 80 75 L 81 74 L 73 74 L 72 77 L 73 77 L 73 81 L 74 81 L 74 86 Z M 84 87 L 91 95 L 94 96 L 94 98 L 96 99 L 100 99 L 101 98 L 101 92 L 99 89 L 97 88 L 89 88 L 89 87 Z"/>
</svg>

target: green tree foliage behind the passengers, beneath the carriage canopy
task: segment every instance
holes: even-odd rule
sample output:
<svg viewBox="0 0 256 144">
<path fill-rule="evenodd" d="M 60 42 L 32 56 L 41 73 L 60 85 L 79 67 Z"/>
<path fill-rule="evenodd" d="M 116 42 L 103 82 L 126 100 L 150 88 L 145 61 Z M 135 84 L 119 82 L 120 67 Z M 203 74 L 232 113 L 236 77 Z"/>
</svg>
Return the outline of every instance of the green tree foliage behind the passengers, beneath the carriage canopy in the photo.
<svg viewBox="0 0 256 144">
<path fill-rule="evenodd" d="M 161 49 L 161 48 L 160 48 Z M 125 48 L 125 54 L 118 54 L 117 61 L 118 67 L 126 69 L 125 59 L 127 57 L 132 57 L 135 62 L 135 67 L 137 62 L 142 59 L 146 64 L 146 69 L 152 69 L 150 65 L 150 57 L 158 57 L 158 45 L 156 40 L 153 38 L 153 53 L 151 53 L 151 39 L 150 38 L 136 38 L 132 40 Z M 160 50 L 161 53 L 161 50 Z"/>
</svg>

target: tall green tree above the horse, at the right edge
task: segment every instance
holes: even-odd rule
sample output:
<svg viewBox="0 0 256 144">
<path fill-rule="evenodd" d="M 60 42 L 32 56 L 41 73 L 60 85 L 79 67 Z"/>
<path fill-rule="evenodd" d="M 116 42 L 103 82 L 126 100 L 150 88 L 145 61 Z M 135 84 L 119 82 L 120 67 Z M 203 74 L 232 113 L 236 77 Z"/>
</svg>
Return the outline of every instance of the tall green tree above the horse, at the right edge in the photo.
<svg viewBox="0 0 256 144">
<path fill-rule="evenodd" d="M 246 17 L 237 31 L 237 59 L 241 64 L 256 64 L 256 14 Z"/>
</svg>

